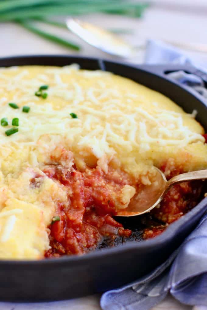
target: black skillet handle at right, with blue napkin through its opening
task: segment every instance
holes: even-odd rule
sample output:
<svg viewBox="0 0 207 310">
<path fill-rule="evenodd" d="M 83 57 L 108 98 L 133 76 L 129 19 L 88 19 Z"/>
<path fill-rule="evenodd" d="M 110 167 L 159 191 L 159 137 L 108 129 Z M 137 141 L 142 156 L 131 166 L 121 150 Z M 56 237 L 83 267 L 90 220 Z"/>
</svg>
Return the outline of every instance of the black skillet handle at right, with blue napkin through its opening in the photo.
<svg viewBox="0 0 207 310">
<path fill-rule="evenodd" d="M 183 70 L 186 73 L 195 74 L 199 78 L 201 78 L 205 84 L 205 88 L 207 88 L 207 73 L 204 71 L 193 67 L 191 65 L 179 65 L 179 64 L 164 64 L 164 65 L 151 65 L 146 64 L 142 65 L 142 68 L 155 73 L 156 75 L 159 75 L 161 77 L 167 78 L 168 73 L 176 72 Z"/>
</svg>

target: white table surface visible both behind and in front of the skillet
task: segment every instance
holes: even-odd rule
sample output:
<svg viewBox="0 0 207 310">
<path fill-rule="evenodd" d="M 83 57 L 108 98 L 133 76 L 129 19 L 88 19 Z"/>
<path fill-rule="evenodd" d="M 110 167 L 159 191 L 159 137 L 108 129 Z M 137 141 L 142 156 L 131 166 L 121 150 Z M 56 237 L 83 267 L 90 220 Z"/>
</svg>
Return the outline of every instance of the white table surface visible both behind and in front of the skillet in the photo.
<svg viewBox="0 0 207 310">
<path fill-rule="evenodd" d="M 94 14 L 82 16 L 81 18 L 100 25 L 105 28 L 128 28 L 133 29 L 133 34 L 122 35 L 128 42 L 136 45 L 146 38 L 159 38 L 179 42 L 206 43 L 207 29 L 207 1 L 206 0 L 151 0 L 154 3 L 146 11 L 142 19 L 132 19 L 123 16 Z M 83 43 L 67 30 L 58 29 L 52 26 L 42 25 L 53 33 L 60 34 L 65 38 L 73 39 L 81 43 L 83 50 L 77 55 L 91 55 L 110 59 L 97 49 Z M 74 54 L 64 47 L 45 41 L 35 34 L 28 32 L 20 26 L 12 23 L 0 24 L 0 57 L 11 55 L 28 54 Z M 185 51 L 195 61 L 201 62 L 207 67 L 207 53 Z M 137 54 L 137 63 L 142 63 L 144 52 Z M 68 301 L 55 303 L 0 303 L 1 310 L 100 310 L 100 295 L 86 296 Z M 207 306 L 207 305 L 206 305 Z M 204 309 L 205 308 L 205 309 Z M 185 306 L 168 295 L 164 301 L 158 304 L 153 310 L 190 310 L 191 306 Z M 194 307 L 194 310 L 207 310 L 206 307 Z M 111 309 L 113 310 L 113 309 Z M 139 310 L 139 309 L 137 309 Z M 140 309 L 141 310 L 141 309 Z"/>
</svg>

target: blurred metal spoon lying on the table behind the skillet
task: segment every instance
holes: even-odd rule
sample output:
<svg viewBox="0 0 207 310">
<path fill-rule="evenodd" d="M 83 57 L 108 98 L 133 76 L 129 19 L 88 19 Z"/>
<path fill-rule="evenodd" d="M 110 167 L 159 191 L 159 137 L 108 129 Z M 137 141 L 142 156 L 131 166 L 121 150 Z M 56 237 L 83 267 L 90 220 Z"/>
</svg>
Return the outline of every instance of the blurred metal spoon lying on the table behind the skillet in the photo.
<svg viewBox="0 0 207 310">
<path fill-rule="evenodd" d="M 110 33 L 109 31 L 79 19 L 68 18 L 66 20 L 66 24 L 68 29 L 70 29 L 70 31 L 79 36 L 82 40 L 111 55 L 136 59 L 136 53 L 140 49 L 146 48 L 146 43 L 142 43 L 139 46 L 132 47 L 130 44 L 118 38 L 116 35 Z M 207 52 L 206 44 L 170 41 L 165 42 L 173 46 L 184 48 L 186 50 L 205 53 Z"/>
</svg>

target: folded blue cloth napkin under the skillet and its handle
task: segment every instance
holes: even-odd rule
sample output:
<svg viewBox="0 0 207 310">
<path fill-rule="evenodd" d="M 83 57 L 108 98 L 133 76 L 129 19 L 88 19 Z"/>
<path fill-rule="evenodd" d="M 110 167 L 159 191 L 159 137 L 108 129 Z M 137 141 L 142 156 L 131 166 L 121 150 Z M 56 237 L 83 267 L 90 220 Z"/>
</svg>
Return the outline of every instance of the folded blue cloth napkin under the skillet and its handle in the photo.
<svg viewBox="0 0 207 310">
<path fill-rule="evenodd" d="M 152 40 L 147 43 L 145 63 L 195 66 L 178 50 Z M 207 90 L 200 77 L 183 71 L 169 73 L 169 77 L 193 87 L 207 101 Z M 148 310 L 164 299 L 168 292 L 181 303 L 196 305 L 194 310 L 207 310 L 207 215 L 161 266 L 127 286 L 104 293 L 101 308 Z"/>
</svg>

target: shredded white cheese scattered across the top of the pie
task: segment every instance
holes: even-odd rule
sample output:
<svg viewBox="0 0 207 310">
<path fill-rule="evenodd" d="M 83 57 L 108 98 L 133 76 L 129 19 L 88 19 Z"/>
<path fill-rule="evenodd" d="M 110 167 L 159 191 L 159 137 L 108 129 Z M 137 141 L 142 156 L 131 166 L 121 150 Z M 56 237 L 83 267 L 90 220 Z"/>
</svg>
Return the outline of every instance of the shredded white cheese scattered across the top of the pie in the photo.
<svg viewBox="0 0 207 310">
<path fill-rule="evenodd" d="M 21 109 L 11 109 L 4 100 L 1 115 L 7 116 L 10 124 L 14 117 L 18 117 L 20 122 L 19 132 L 9 137 L 10 142 L 35 145 L 40 135 L 61 134 L 77 141 L 80 145 L 83 141 L 91 144 L 92 137 L 100 139 L 105 136 L 105 141 L 103 139 L 102 141 L 109 144 L 128 145 L 130 143 L 137 148 L 137 152 L 143 152 L 143 141 L 149 147 L 157 143 L 162 146 L 184 147 L 189 143 L 204 142 L 204 138 L 199 133 L 183 125 L 181 113 L 160 109 L 155 102 L 152 102 L 154 105 L 152 111 L 142 104 L 136 106 L 134 104 L 136 100 L 142 101 L 143 96 L 138 98 L 137 94 L 128 92 L 124 102 L 123 99 L 117 99 L 120 98 L 120 92 L 113 85 L 111 88 L 106 88 L 104 87 L 106 84 L 102 81 L 98 83 L 102 82 L 101 89 L 98 85 L 84 89 L 78 79 L 72 79 L 72 83 L 62 81 L 62 73 L 71 75 L 76 71 L 75 66 L 46 69 L 44 73 L 39 73 L 32 79 L 27 78 L 29 75 L 27 69 L 17 73 L 13 79 L 0 73 L 2 88 L 8 92 L 15 91 L 12 100 L 21 106 L 26 102 L 30 107 L 29 113 L 22 113 Z M 110 77 L 110 73 L 101 71 L 77 72 L 79 78 L 81 75 L 87 79 Z M 44 102 L 41 97 L 35 97 L 34 92 L 43 79 L 48 79 L 47 73 L 54 75 L 54 80 L 47 91 L 47 102 Z M 54 106 L 51 102 L 55 98 L 68 101 L 68 105 L 64 104 L 57 109 L 58 105 Z M 128 99 L 131 100 L 131 104 Z M 78 119 L 71 119 L 71 112 L 76 113 Z M 196 111 L 194 110 L 191 115 L 194 117 Z M 108 125 L 109 121 L 110 125 Z M 5 128 L 1 126 L 1 145 L 8 142 L 8 137 L 4 132 Z M 106 151 L 104 145 L 102 148 Z"/>
</svg>

